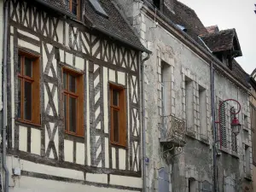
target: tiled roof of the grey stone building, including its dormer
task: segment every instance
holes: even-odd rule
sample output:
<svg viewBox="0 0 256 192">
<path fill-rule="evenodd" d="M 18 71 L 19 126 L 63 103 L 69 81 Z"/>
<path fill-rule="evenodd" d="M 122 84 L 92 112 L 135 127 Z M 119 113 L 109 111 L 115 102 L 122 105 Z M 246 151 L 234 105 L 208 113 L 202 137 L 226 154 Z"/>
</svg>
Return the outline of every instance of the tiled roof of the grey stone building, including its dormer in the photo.
<svg viewBox="0 0 256 192">
<path fill-rule="evenodd" d="M 150 1 L 151 0 L 148 0 L 148 2 Z M 201 42 L 200 38 L 198 38 L 199 36 L 204 37 L 204 42 L 207 44 L 209 49 L 213 51 L 228 49 L 233 46 L 233 39 L 236 36 L 235 29 L 218 32 L 218 26 L 211 26 L 210 28 L 212 28 L 212 30 L 214 29 L 217 33 L 211 33 L 213 31 L 208 32 L 210 28 L 207 28 L 202 24 L 193 9 L 190 9 L 188 6 L 178 2 L 177 0 L 173 0 L 173 3 L 174 9 L 170 11 L 169 9 L 164 8 L 163 14 L 171 20 L 172 23 L 184 26 L 187 29 L 186 33 L 198 44 L 201 44 L 201 46 L 207 51 L 209 50 L 206 48 L 205 44 Z M 242 69 L 236 60 L 233 61 L 232 70 L 229 70 L 229 72 L 235 79 L 241 82 L 241 84 L 248 87 L 248 74 Z"/>
</svg>

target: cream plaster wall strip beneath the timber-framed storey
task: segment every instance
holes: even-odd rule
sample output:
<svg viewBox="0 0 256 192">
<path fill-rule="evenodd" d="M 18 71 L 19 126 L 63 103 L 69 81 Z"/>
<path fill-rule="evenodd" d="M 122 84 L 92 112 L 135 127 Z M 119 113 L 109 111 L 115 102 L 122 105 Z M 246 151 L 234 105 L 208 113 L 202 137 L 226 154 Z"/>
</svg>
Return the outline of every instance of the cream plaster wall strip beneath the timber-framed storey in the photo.
<svg viewBox="0 0 256 192">
<path fill-rule="evenodd" d="M 12 188 L 9 188 L 10 191 L 129 191 L 123 189 L 113 189 L 113 188 L 103 188 L 103 187 L 94 187 L 89 185 L 84 185 L 79 181 L 87 181 L 93 183 L 108 183 L 108 175 L 107 174 L 99 174 L 99 173 L 86 173 L 84 177 L 84 172 L 70 170 L 61 167 L 55 166 L 46 166 L 42 164 L 38 164 L 35 162 L 20 160 L 19 158 L 15 158 L 14 156 L 7 157 L 7 163 L 10 171 L 9 180 Z M 12 175 L 12 169 L 20 168 L 21 171 L 24 172 L 38 172 L 43 175 L 52 175 L 56 177 L 65 177 L 77 179 L 78 183 L 67 183 L 67 182 L 59 182 L 55 180 L 47 180 L 36 177 L 26 177 L 20 176 L 15 177 Z M 110 184 L 118 185 L 118 186 L 127 186 L 134 188 L 142 187 L 142 179 L 140 177 L 125 177 L 125 176 L 116 176 L 110 175 Z M 63 187 L 66 186 L 66 187 Z M 71 186 L 73 186 L 71 188 Z"/>
</svg>

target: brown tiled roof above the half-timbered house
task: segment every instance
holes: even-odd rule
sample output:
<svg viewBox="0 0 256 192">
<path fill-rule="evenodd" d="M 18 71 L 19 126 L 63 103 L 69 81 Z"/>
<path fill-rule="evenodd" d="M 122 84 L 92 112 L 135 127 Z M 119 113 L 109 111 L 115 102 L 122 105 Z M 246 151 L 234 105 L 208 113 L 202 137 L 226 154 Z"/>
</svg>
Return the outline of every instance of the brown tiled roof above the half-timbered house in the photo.
<svg viewBox="0 0 256 192">
<path fill-rule="evenodd" d="M 72 13 L 67 9 L 66 0 L 37 0 L 38 3 L 44 2 L 44 4 L 48 4 L 51 7 L 55 7 L 60 10 L 62 13 L 68 13 L 72 15 Z M 96 10 L 93 9 L 89 0 L 84 0 L 84 19 L 86 24 L 90 26 L 96 26 L 97 28 L 102 29 L 104 32 L 108 32 L 109 36 L 118 37 L 119 41 L 128 45 L 135 45 L 133 47 L 145 50 L 143 44 L 141 44 L 139 38 L 137 38 L 136 34 L 131 29 L 131 26 L 125 21 L 122 15 L 119 13 L 119 10 L 114 6 L 111 0 L 98 0 L 102 5 L 102 9 L 107 13 L 108 18 L 96 13 Z M 67 14 L 67 15 L 68 15 Z M 125 41 L 123 41 L 125 39 Z"/>
</svg>

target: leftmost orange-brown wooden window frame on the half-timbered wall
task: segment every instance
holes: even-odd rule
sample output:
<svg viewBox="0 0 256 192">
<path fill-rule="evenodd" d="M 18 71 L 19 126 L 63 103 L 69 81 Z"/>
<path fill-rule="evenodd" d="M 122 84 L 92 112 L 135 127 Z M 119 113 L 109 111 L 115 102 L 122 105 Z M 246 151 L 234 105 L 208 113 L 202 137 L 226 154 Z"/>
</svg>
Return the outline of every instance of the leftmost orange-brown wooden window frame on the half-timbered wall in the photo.
<svg viewBox="0 0 256 192">
<path fill-rule="evenodd" d="M 41 111 L 40 111 L 40 57 L 38 55 L 34 55 L 32 53 L 28 53 L 23 50 L 19 50 L 19 59 L 22 61 L 20 62 L 20 73 L 17 71 L 17 80 L 21 80 L 21 87 L 20 87 L 20 94 L 21 94 L 21 101 L 20 101 L 20 118 L 17 119 L 26 124 L 31 125 L 41 125 Z M 24 63 L 25 58 L 32 59 L 32 77 L 26 76 L 24 71 Z M 32 119 L 24 119 L 24 83 L 30 82 L 32 84 Z"/>
</svg>

